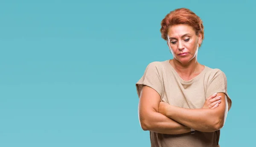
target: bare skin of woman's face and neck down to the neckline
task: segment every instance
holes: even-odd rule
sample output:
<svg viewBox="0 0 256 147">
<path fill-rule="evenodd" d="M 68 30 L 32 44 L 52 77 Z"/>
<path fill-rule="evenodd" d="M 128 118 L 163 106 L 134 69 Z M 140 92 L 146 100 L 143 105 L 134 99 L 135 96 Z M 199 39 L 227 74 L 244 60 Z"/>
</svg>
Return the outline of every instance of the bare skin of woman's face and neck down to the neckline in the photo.
<svg viewBox="0 0 256 147">
<path fill-rule="evenodd" d="M 196 35 L 194 29 L 187 25 L 175 25 L 169 28 L 168 41 L 173 60 L 170 64 L 181 78 L 189 81 L 199 75 L 204 66 L 198 63 L 198 46 L 201 44 L 201 34 Z M 186 55 L 179 55 L 187 53 Z"/>
</svg>

